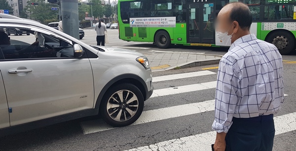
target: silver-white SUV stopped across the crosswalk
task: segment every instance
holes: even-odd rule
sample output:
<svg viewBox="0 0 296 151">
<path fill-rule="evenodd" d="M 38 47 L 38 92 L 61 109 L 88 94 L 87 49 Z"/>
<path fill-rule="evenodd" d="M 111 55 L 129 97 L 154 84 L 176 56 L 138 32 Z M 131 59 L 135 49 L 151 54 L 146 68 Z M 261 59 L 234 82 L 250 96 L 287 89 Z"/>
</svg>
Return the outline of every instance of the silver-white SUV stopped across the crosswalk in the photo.
<svg viewBox="0 0 296 151">
<path fill-rule="evenodd" d="M 0 135 L 86 116 L 113 126 L 140 117 L 153 91 L 143 54 L 89 46 L 27 20 L 2 18 L 1 28 L 32 35 L 0 31 Z"/>
</svg>

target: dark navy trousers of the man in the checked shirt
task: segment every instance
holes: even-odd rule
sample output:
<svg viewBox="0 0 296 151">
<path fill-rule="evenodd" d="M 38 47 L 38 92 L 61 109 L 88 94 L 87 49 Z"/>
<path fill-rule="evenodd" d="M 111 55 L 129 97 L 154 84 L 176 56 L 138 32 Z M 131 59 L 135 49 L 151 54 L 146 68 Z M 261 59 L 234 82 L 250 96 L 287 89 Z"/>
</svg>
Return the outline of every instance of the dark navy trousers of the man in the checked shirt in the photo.
<svg viewBox="0 0 296 151">
<path fill-rule="evenodd" d="M 231 151 L 272 151 L 275 134 L 273 115 L 233 118 L 232 122 L 225 138 Z"/>
</svg>

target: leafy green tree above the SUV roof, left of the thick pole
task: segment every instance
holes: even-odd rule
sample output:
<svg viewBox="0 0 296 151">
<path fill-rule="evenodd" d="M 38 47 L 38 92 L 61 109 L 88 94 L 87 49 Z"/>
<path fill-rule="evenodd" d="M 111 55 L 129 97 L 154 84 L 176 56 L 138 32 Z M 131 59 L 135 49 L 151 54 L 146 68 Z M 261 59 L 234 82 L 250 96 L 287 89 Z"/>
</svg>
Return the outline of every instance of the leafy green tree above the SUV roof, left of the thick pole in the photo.
<svg viewBox="0 0 296 151">
<path fill-rule="evenodd" d="M 37 2 L 38 5 L 32 5 L 32 2 Z M 41 3 L 43 2 L 43 3 Z M 51 10 L 51 7 L 57 7 L 56 4 L 44 4 L 43 0 L 29 0 L 24 11 L 30 15 L 30 19 L 39 21 L 45 24 L 45 20 L 56 20 L 59 11 Z"/>
</svg>

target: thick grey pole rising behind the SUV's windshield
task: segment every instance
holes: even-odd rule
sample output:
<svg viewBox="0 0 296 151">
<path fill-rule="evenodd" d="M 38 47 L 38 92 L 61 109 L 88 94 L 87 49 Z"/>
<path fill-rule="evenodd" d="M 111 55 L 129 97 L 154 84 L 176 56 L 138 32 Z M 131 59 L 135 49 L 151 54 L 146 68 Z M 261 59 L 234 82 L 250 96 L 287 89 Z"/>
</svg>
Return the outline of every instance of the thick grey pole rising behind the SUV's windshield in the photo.
<svg viewBox="0 0 296 151">
<path fill-rule="evenodd" d="M 78 0 L 61 0 L 63 32 L 79 39 Z"/>
</svg>

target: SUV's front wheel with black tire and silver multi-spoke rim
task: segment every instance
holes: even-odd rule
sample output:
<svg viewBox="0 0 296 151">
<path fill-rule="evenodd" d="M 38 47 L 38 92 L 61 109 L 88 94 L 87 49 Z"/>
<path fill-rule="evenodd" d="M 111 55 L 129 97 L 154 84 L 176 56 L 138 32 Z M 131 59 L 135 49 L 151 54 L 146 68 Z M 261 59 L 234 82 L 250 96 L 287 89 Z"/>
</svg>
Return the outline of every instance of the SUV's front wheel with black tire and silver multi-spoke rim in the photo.
<svg viewBox="0 0 296 151">
<path fill-rule="evenodd" d="M 127 126 L 139 119 L 143 108 L 144 97 L 139 88 L 124 83 L 111 87 L 105 93 L 100 104 L 100 116 L 111 126 Z"/>
</svg>

